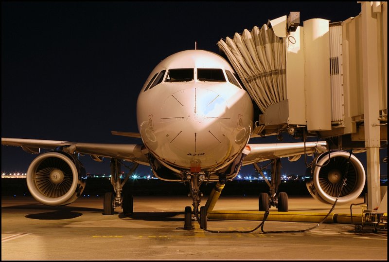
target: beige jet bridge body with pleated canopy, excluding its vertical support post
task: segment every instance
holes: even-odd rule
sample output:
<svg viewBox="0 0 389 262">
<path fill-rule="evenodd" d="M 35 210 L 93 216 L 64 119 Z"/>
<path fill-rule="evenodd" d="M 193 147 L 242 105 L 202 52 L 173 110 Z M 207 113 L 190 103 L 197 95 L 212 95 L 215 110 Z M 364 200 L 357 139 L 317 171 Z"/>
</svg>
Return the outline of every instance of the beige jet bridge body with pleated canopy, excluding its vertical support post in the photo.
<svg viewBox="0 0 389 262">
<path fill-rule="evenodd" d="M 387 3 L 376 12 L 377 117 L 387 122 Z M 298 12 L 291 12 L 298 13 Z M 309 19 L 294 31 L 287 16 L 218 41 L 261 113 L 252 136 L 303 127 L 321 137 L 364 141 L 361 14 L 345 21 Z M 381 126 L 381 141 L 387 126 Z M 355 148 L 355 146 L 353 146 Z M 363 146 L 362 146 L 363 147 Z"/>
</svg>

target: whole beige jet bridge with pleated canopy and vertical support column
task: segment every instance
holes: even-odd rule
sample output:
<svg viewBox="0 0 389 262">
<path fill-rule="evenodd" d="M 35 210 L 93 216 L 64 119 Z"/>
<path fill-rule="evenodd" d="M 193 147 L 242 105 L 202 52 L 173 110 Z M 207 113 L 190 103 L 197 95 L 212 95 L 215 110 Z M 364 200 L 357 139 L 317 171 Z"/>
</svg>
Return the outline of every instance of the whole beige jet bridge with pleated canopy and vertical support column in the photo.
<svg viewBox="0 0 389 262">
<path fill-rule="evenodd" d="M 303 26 L 300 12 L 291 12 L 217 43 L 260 111 L 251 136 L 305 133 L 331 149 L 367 150 L 373 207 L 379 148 L 388 140 L 387 8 L 361 2 L 356 17 Z"/>
</svg>

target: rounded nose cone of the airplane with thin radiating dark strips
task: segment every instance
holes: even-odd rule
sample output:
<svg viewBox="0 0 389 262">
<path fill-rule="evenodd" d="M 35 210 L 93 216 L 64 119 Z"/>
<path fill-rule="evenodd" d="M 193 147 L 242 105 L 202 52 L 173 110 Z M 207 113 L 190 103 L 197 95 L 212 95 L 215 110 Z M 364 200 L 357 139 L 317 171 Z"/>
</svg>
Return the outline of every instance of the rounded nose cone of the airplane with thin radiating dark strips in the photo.
<svg viewBox="0 0 389 262">
<path fill-rule="evenodd" d="M 193 156 L 223 150 L 231 116 L 220 94 L 191 88 L 171 94 L 164 101 L 160 121 L 165 143 L 181 155 Z"/>
</svg>

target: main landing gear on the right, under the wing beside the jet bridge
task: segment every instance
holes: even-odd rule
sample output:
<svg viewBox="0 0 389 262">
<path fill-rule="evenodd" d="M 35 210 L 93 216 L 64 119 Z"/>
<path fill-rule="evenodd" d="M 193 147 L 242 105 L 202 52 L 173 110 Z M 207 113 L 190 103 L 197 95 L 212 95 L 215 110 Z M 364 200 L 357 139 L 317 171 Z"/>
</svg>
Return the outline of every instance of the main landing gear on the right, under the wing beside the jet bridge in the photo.
<svg viewBox="0 0 389 262">
<path fill-rule="evenodd" d="M 271 163 L 272 169 L 270 182 L 266 179 L 264 173 L 262 172 L 263 168 L 259 168 L 256 163 L 253 164 L 255 169 L 257 169 L 258 173 L 261 174 L 266 184 L 269 186 L 269 193 L 261 192 L 259 194 L 258 210 L 267 211 L 270 206 L 275 206 L 279 212 L 287 212 L 289 209 L 288 195 L 286 192 L 278 192 L 278 187 L 281 183 L 281 160 L 277 158 Z"/>
</svg>

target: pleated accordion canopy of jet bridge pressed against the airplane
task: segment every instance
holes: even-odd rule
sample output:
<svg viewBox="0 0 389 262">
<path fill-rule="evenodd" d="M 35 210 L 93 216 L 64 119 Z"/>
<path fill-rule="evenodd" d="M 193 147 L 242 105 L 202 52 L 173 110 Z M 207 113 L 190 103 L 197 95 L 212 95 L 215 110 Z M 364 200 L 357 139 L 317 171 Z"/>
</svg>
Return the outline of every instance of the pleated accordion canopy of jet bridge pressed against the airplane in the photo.
<svg viewBox="0 0 389 262">
<path fill-rule="evenodd" d="M 263 25 L 235 33 L 218 45 L 262 112 L 286 99 L 285 38 Z"/>
</svg>

